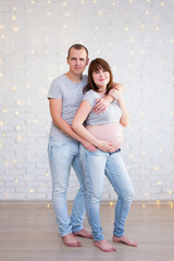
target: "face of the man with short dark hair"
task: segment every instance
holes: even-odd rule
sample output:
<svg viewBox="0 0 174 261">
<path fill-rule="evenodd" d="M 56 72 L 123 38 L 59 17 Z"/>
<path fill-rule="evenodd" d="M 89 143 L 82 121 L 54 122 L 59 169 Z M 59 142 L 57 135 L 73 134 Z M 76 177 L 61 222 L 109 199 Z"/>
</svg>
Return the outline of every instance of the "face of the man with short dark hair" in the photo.
<svg viewBox="0 0 174 261">
<path fill-rule="evenodd" d="M 86 50 L 83 48 L 76 50 L 72 48 L 70 50 L 70 57 L 67 58 L 67 64 L 70 65 L 70 72 L 75 75 L 80 75 L 86 65 L 88 64 L 89 59 L 87 58 Z"/>
</svg>

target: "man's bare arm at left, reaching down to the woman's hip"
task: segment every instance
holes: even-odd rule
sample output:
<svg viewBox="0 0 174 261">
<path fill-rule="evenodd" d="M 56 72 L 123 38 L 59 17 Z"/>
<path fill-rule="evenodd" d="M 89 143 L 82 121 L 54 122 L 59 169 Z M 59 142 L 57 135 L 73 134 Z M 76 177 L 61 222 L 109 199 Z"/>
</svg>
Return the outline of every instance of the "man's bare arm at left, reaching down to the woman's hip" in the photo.
<svg viewBox="0 0 174 261">
<path fill-rule="evenodd" d="M 63 133 L 80 141 L 85 148 L 95 151 L 95 146 L 88 144 L 82 137 L 79 137 L 71 127 L 71 125 L 62 117 L 62 99 L 49 99 L 50 114 L 52 122 L 58 126 Z"/>
</svg>

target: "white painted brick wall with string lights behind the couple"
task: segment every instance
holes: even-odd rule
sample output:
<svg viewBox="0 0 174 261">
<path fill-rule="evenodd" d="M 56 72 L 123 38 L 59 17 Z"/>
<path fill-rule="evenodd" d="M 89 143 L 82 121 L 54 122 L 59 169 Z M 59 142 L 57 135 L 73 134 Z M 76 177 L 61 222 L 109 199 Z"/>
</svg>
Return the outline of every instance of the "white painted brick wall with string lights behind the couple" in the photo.
<svg viewBox="0 0 174 261">
<path fill-rule="evenodd" d="M 51 199 L 47 92 L 82 42 L 125 85 L 137 200 L 174 199 L 173 0 L 0 0 L 0 199 Z M 69 199 L 78 183 L 72 172 Z M 104 199 L 115 195 L 105 181 Z"/>
</svg>

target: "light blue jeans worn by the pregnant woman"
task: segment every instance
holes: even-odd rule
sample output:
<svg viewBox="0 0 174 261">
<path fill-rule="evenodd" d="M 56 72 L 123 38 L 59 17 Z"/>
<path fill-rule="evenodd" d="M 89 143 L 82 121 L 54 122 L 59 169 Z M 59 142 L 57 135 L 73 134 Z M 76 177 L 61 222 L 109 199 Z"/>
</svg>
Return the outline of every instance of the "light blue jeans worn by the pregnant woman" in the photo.
<svg viewBox="0 0 174 261">
<path fill-rule="evenodd" d="M 98 149 L 90 152 L 80 145 L 79 154 L 86 190 L 87 217 L 92 229 L 94 240 L 97 241 L 104 238 L 100 226 L 100 201 L 102 199 L 104 175 L 117 194 L 113 231 L 113 235 L 116 237 L 124 235 L 125 221 L 134 197 L 134 188 L 120 151 L 119 149 L 109 153 Z"/>
</svg>

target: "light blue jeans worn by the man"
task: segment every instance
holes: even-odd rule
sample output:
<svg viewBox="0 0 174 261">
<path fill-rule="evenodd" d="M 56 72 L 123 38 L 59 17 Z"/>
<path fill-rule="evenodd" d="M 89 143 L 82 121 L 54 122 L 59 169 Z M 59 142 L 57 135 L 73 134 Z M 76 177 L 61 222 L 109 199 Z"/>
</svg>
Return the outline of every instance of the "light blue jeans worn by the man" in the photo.
<svg viewBox="0 0 174 261">
<path fill-rule="evenodd" d="M 72 232 L 75 233 L 83 229 L 86 209 L 82 165 L 79 162 L 79 145 L 75 141 L 60 140 L 50 137 L 48 156 L 52 175 L 52 204 L 59 233 L 63 237 Z M 79 189 L 74 201 L 72 215 L 69 217 L 66 191 L 71 166 L 73 166 L 77 175 Z"/>
</svg>

